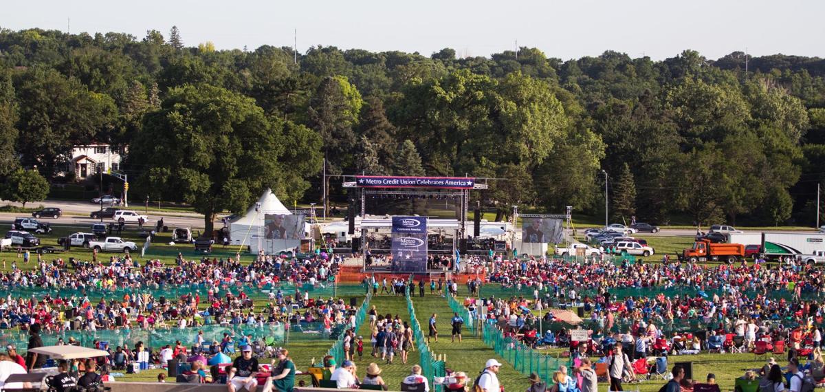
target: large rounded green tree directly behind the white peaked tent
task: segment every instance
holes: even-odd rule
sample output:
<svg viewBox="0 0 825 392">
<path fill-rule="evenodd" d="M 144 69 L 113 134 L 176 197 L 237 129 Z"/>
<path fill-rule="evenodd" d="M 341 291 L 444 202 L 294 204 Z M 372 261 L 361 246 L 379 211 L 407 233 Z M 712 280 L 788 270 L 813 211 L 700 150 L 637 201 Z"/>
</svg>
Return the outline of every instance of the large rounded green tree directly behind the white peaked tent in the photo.
<svg viewBox="0 0 825 392">
<path fill-rule="evenodd" d="M 242 213 L 281 177 L 281 126 L 252 98 L 209 85 L 172 88 L 145 115 L 131 157 L 147 165 L 147 191 L 190 203 L 207 233 L 223 210 Z"/>
</svg>

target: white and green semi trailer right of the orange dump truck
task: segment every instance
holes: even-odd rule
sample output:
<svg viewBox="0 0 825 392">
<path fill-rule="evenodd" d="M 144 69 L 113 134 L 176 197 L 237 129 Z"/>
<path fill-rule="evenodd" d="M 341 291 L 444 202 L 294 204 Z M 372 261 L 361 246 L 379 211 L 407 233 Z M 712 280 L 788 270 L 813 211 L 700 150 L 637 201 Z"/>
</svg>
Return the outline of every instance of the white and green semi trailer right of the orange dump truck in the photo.
<svg viewBox="0 0 825 392">
<path fill-rule="evenodd" d="M 730 234 L 730 242 L 761 245 L 762 257 L 779 260 L 825 251 L 825 234 L 820 233 L 759 233 Z"/>
</svg>

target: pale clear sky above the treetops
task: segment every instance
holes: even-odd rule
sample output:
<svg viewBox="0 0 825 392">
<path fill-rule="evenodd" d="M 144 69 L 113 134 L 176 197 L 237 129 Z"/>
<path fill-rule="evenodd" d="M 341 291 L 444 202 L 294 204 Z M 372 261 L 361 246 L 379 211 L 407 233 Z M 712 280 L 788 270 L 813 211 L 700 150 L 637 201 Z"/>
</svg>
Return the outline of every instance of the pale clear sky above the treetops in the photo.
<svg viewBox="0 0 825 392">
<path fill-rule="evenodd" d="M 185 45 L 211 41 L 219 50 L 292 46 L 297 29 L 301 53 L 333 45 L 427 56 L 449 47 L 460 56 L 489 56 L 514 50 L 517 41 L 560 59 L 615 50 L 660 60 L 687 49 L 708 59 L 746 50 L 825 57 L 823 15 L 821 0 L 40 0 L 5 2 L 0 27 L 140 39 L 148 30 L 168 38 L 177 26 Z"/>
</svg>

